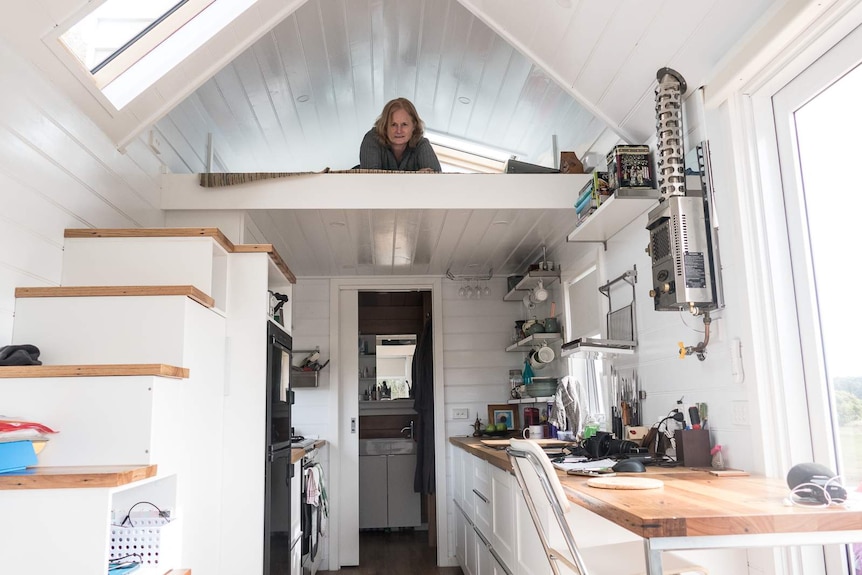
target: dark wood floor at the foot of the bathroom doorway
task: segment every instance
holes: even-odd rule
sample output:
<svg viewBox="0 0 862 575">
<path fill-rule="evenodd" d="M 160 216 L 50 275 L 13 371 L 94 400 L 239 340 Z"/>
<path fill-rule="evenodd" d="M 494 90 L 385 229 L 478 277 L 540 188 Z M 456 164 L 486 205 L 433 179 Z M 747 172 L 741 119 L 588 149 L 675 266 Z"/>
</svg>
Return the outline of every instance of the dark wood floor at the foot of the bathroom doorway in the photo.
<svg viewBox="0 0 862 575">
<path fill-rule="evenodd" d="M 427 531 L 360 531 L 359 567 L 319 571 L 338 575 L 462 575 L 460 567 L 436 567 L 437 548 Z"/>
</svg>

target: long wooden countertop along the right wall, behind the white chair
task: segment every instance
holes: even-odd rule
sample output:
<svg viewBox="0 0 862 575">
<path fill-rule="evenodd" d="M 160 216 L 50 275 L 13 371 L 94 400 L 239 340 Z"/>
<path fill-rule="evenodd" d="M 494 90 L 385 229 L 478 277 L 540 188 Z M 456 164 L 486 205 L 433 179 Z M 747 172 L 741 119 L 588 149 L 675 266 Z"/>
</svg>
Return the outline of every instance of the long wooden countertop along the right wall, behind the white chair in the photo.
<svg viewBox="0 0 862 575">
<path fill-rule="evenodd" d="M 450 443 L 505 470 L 505 450 L 483 446 L 479 438 L 452 437 Z M 786 483 L 751 475 L 716 477 L 707 469 L 647 467 L 633 476 L 660 479 L 660 489 L 597 489 L 587 478 L 557 474 L 568 499 L 641 537 L 747 535 L 844 531 L 862 525 L 862 501 L 844 506 L 787 506 Z M 629 475 L 629 474 L 626 474 Z"/>
</svg>

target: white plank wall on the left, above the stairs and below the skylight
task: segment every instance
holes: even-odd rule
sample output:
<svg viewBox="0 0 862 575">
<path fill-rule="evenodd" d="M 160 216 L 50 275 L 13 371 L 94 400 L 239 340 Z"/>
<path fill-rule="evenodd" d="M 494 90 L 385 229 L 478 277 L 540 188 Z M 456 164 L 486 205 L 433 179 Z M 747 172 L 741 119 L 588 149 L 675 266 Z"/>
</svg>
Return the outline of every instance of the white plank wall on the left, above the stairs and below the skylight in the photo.
<svg viewBox="0 0 862 575">
<path fill-rule="evenodd" d="M 140 141 L 125 154 L 0 41 L 0 346 L 16 287 L 60 282 L 63 230 L 158 227 L 160 163 Z M 39 345 L 39 342 L 32 342 Z"/>
</svg>

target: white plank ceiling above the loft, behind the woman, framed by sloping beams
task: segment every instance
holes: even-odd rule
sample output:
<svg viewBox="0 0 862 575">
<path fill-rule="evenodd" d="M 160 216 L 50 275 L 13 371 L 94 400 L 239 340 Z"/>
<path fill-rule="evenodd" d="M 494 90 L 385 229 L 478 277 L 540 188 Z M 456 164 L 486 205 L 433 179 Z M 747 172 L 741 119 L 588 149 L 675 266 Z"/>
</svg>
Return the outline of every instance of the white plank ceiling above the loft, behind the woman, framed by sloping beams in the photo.
<svg viewBox="0 0 862 575">
<path fill-rule="evenodd" d="M 429 131 L 553 166 L 606 131 L 455 0 L 311 0 L 157 124 L 173 172 L 346 169 L 383 105 L 407 97 Z M 610 134 L 612 139 L 616 136 Z"/>
</svg>

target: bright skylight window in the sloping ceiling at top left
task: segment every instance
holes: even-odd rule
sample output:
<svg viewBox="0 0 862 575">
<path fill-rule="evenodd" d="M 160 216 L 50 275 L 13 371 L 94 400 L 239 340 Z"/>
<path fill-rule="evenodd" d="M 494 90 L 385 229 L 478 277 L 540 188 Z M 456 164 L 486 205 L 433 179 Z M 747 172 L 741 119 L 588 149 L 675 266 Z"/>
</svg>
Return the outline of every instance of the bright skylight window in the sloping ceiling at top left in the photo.
<svg viewBox="0 0 862 575">
<path fill-rule="evenodd" d="M 257 0 L 105 0 L 54 36 L 120 110 Z"/>
</svg>

